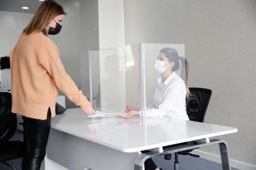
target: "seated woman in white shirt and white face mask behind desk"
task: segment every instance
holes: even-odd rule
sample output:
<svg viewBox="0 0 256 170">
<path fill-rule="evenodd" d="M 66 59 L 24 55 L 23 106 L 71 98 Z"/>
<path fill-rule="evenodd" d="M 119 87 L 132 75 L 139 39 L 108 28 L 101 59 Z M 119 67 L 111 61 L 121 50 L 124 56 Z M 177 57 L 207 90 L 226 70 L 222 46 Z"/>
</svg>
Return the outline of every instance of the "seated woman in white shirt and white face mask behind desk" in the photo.
<svg viewBox="0 0 256 170">
<path fill-rule="evenodd" d="M 180 69 L 181 77 L 175 71 Z M 173 48 L 163 48 L 157 57 L 155 68 L 161 74 L 157 79 L 156 92 L 154 94 L 154 107 L 145 111 L 147 117 L 169 116 L 173 119 L 189 120 L 186 114 L 186 97 L 189 96 L 188 74 L 189 66 L 184 57 L 180 57 Z M 141 116 L 140 108 L 126 108 L 126 116 Z M 152 159 L 145 161 L 145 170 L 159 170 Z"/>
</svg>

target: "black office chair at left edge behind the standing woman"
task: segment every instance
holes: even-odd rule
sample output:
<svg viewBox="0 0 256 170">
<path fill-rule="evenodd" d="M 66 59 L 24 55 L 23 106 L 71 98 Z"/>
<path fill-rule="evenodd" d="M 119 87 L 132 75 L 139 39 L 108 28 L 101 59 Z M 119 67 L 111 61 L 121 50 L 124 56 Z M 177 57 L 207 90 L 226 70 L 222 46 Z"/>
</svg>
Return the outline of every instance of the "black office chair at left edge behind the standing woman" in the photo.
<svg viewBox="0 0 256 170">
<path fill-rule="evenodd" d="M 23 156 L 23 142 L 9 141 L 17 129 L 17 116 L 11 112 L 12 95 L 0 92 L 0 162 L 15 168 L 6 161 L 18 159 Z"/>
</svg>

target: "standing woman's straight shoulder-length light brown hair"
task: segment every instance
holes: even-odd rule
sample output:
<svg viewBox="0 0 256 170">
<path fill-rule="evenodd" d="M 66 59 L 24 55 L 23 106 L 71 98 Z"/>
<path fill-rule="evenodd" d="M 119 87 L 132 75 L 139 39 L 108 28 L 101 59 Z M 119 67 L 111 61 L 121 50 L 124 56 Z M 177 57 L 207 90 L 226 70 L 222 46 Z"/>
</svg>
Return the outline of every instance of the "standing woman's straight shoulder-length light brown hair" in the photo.
<svg viewBox="0 0 256 170">
<path fill-rule="evenodd" d="M 55 0 L 45 0 L 38 7 L 34 17 L 30 21 L 29 25 L 23 30 L 24 34 L 32 34 L 34 31 L 42 31 L 44 35 L 47 35 L 45 27 L 48 26 L 50 21 L 58 15 L 66 15 L 62 6 L 55 2 Z"/>
</svg>

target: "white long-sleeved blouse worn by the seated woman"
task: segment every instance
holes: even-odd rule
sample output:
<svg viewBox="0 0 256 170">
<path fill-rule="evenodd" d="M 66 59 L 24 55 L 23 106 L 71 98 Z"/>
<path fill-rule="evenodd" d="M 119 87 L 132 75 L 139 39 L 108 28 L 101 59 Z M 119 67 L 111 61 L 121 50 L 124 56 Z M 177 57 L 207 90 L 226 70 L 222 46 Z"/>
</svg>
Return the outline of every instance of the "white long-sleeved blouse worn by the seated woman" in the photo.
<svg viewBox="0 0 256 170">
<path fill-rule="evenodd" d="M 154 106 L 147 109 L 147 117 L 169 116 L 173 119 L 189 120 L 186 114 L 186 85 L 183 79 L 174 71 L 165 82 L 162 81 L 162 77 L 157 79 Z"/>
</svg>

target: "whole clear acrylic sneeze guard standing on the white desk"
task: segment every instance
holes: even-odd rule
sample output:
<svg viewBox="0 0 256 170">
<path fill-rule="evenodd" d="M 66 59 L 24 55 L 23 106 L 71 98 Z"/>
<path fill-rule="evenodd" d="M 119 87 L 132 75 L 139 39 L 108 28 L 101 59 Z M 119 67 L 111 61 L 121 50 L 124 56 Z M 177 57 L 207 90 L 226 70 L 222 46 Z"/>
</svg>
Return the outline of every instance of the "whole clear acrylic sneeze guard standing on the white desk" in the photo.
<svg viewBox="0 0 256 170">
<path fill-rule="evenodd" d="M 90 50 L 90 100 L 94 109 L 125 113 L 128 106 L 141 108 L 142 125 L 146 126 L 146 111 L 155 107 L 154 94 L 161 77 L 155 62 L 163 48 L 174 48 L 179 56 L 185 57 L 184 44 L 136 44 Z M 175 72 L 182 77 L 181 67 Z"/>
</svg>

